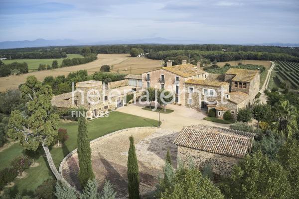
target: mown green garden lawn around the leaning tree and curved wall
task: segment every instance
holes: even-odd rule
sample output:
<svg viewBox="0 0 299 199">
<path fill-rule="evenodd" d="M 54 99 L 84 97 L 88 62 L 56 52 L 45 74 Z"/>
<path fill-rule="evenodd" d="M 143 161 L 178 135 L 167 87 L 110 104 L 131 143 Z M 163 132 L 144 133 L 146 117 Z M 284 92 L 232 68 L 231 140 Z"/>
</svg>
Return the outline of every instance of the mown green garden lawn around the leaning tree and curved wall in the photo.
<svg viewBox="0 0 299 199">
<path fill-rule="evenodd" d="M 144 117 L 139 117 L 131 114 L 121 112 L 111 112 L 109 117 L 98 118 L 92 121 L 88 121 L 88 135 L 89 139 L 101 137 L 108 133 L 121 130 L 124 128 L 139 127 L 139 126 L 156 126 L 157 120 L 152 120 Z M 63 147 L 51 149 L 53 161 L 59 168 L 59 164 L 62 159 L 72 150 L 77 148 L 77 122 L 62 122 L 61 128 L 66 128 L 69 139 L 64 143 Z M 128 141 L 129 142 L 129 141 Z M 13 144 L 8 149 L 0 152 L 0 169 L 9 166 L 9 162 L 16 156 L 21 155 L 22 148 L 18 143 Z M 36 162 L 40 163 L 38 167 L 29 168 L 25 170 L 28 173 L 28 177 L 25 179 L 15 179 L 15 186 L 11 188 L 12 193 L 20 193 L 24 195 L 33 195 L 34 190 L 44 180 L 52 176 L 51 171 L 48 169 L 46 158 L 39 156 Z"/>
</svg>

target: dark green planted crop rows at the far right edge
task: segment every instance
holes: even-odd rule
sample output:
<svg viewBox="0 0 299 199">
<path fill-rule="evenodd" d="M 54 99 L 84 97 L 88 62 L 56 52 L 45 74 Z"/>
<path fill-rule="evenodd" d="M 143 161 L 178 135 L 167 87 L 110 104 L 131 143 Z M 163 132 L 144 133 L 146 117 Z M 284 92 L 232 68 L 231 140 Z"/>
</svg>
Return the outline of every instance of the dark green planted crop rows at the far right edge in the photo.
<svg viewBox="0 0 299 199">
<path fill-rule="evenodd" d="M 299 89 L 299 63 L 278 61 L 277 79 L 282 83 L 289 81 L 294 89 Z"/>
</svg>

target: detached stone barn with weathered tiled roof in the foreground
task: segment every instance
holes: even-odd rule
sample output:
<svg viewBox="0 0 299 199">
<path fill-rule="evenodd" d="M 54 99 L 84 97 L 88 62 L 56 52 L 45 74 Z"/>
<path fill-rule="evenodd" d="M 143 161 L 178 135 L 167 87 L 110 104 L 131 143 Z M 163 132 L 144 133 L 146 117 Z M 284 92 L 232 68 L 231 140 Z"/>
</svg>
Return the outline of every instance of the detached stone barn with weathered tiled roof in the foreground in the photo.
<svg viewBox="0 0 299 199">
<path fill-rule="evenodd" d="M 174 144 L 177 157 L 202 170 L 210 165 L 215 176 L 229 176 L 232 168 L 251 151 L 254 133 L 206 125 L 184 127 Z"/>
</svg>

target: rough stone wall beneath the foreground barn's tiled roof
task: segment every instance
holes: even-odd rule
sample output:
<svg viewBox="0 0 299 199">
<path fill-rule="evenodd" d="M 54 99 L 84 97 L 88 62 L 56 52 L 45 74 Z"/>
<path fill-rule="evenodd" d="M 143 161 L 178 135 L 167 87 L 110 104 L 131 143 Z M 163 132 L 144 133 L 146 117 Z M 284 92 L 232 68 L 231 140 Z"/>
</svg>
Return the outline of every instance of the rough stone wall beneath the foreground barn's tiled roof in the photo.
<svg viewBox="0 0 299 199">
<path fill-rule="evenodd" d="M 194 165 L 200 170 L 207 164 L 210 164 L 212 171 L 220 176 L 230 176 L 234 165 L 241 160 L 235 157 L 209 153 L 183 146 L 177 147 L 177 157 L 186 165 L 188 165 L 191 159 Z"/>
</svg>

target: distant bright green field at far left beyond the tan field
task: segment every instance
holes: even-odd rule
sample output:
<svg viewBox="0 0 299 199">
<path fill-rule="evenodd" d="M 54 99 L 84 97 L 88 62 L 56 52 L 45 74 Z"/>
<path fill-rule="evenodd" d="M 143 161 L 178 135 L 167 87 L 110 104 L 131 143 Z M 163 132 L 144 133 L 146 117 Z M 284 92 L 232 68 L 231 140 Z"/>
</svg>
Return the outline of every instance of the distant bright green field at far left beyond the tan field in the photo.
<svg viewBox="0 0 299 199">
<path fill-rule="evenodd" d="M 75 57 L 83 57 L 79 54 L 67 54 L 67 58 L 75 58 Z M 66 58 L 60 58 L 60 59 L 12 59 L 12 60 L 2 60 L 4 64 L 10 64 L 12 62 L 26 62 L 28 64 L 28 70 L 34 71 L 38 69 L 39 64 L 49 64 L 52 65 L 53 60 L 58 61 L 58 65 L 60 66 L 62 63 L 62 60 Z"/>
</svg>

